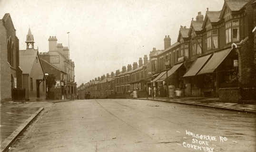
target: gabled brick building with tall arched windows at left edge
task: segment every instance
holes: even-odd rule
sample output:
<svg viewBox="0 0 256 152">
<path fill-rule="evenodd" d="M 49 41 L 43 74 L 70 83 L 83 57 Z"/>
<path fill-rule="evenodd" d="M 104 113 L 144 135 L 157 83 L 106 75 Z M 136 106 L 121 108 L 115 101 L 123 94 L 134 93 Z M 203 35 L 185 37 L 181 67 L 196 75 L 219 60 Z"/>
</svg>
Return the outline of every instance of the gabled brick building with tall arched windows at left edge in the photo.
<svg viewBox="0 0 256 152">
<path fill-rule="evenodd" d="M 16 29 L 7 13 L 0 19 L 0 100 L 25 99 L 19 46 Z"/>
</svg>

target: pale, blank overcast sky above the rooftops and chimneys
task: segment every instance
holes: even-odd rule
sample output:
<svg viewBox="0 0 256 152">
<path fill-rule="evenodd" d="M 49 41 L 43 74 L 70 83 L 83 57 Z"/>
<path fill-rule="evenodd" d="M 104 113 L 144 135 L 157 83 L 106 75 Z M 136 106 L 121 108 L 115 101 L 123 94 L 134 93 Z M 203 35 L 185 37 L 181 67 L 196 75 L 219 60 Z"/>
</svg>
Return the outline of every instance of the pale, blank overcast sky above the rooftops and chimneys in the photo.
<svg viewBox="0 0 256 152">
<path fill-rule="evenodd" d="M 177 42 L 180 26 L 190 26 L 199 11 L 221 10 L 224 0 L 0 0 L 0 18 L 10 13 L 20 50 L 29 28 L 39 52 L 49 51 L 49 36 L 70 47 L 78 86 L 138 63 L 164 49 L 164 37 Z M 69 34 L 67 34 L 69 32 Z"/>
</svg>

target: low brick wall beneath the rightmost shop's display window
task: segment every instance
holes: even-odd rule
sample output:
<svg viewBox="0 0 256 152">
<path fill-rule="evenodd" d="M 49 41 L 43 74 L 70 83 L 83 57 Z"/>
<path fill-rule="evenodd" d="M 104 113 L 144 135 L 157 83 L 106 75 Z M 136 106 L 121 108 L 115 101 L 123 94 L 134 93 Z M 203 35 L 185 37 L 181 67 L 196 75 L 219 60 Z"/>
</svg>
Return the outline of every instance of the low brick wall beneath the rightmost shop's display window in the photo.
<svg viewBox="0 0 256 152">
<path fill-rule="evenodd" d="M 241 99 L 240 88 L 220 88 L 219 89 L 219 100 L 225 102 L 235 102 Z"/>
</svg>

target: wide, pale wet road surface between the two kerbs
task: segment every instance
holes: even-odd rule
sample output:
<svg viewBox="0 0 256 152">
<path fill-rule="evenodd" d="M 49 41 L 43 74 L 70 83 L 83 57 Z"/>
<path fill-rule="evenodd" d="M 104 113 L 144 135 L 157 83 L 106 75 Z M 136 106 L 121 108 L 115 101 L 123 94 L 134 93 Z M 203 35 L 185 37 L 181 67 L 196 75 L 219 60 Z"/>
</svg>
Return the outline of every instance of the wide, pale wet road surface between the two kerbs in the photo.
<svg viewBox="0 0 256 152">
<path fill-rule="evenodd" d="M 253 114 L 174 103 L 56 103 L 9 152 L 256 152 Z"/>
</svg>

